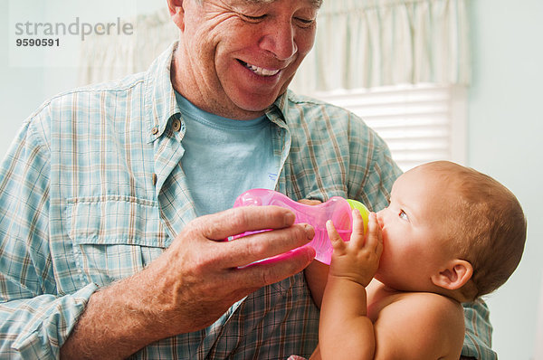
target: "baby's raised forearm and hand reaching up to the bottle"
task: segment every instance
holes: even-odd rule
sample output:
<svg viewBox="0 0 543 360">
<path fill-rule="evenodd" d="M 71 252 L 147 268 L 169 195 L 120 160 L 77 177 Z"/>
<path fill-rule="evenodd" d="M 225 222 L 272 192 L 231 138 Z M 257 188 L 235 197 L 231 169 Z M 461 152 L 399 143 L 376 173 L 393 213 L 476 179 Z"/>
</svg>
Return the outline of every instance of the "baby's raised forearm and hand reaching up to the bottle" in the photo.
<svg viewBox="0 0 543 360">
<path fill-rule="evenodd" d="M 320 310 L 320 355 L 323 359 L 373 359 L 376 342 L 367 317 L 366 287 L 383 251 L 376 214 L 370 213 L 366 239 L 358 211 L 353 212 L 350 242 L 341 240 L 331 222 L 327 230 L 334 252 Z"/>
</svg>

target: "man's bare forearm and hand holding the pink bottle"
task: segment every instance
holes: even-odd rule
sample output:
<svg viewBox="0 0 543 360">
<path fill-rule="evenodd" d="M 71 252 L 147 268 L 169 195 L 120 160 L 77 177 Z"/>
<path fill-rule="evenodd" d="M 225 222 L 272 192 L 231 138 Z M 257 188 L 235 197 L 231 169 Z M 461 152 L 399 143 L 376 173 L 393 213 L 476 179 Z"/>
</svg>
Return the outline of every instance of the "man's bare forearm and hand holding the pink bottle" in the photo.
<svg viewBox="0 0 543 360">
<path fill-rule="evenodd" d="M 265 229 L 272 231 L 224 241 Z M 315 251 L 297 248 L 313 236 L 312 227 L 294 224 L 294 213 L 278 206 L 197 218 L 147 269 L 92 295 L 61 354 L 124 358 L 158 339 L 209 326 L 234 302 L 308 266 Z"/>
</svg>

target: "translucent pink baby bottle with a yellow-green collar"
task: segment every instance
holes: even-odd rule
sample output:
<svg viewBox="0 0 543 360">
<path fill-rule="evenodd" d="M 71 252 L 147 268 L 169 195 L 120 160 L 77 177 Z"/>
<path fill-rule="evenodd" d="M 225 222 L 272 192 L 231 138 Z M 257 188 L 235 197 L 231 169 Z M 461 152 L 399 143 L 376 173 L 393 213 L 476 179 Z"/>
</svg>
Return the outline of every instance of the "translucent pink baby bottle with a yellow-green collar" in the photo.
<svg viewBox="0 0 543 360">
<path fill-rule="evenodd" d="M 284 194 L 268 189 L 252 189 L 238 196 L 233 207 L 250 205 L 277 205 L 291 209 L 296 214 L 294 223 L 309 223 L 315 229 L 315 237 L 304 246 L 311 246 L 317 252 L 315 259 L 329 264 L 332 258 L 332 244 L 326 231 L 326 222 L 331 220 L 344 242 L 350 240 L 352 232 L 351 209 L 357 209 L 364 220 L 364 231 L 367 231 L 367 216 L 369 214 L 364 204 L 356 200 L 334 196 L 326 203 L 319 205 L 300 204 Z M 255 232 L 244 232 L 234 238 Z"/>
</svg>

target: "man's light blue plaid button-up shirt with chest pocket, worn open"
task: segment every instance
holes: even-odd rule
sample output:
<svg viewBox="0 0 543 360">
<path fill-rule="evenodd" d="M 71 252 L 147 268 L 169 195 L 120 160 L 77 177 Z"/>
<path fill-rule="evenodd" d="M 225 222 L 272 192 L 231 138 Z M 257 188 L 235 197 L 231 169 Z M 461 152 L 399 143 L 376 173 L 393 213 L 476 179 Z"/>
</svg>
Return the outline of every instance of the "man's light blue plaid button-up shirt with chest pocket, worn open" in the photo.
<svg viewBox="0 0 543 360">
<path fill-rule="evenodd" d="M 24 122 L 0 166 L 1 356 L 59 357 L 92 293 L 142 270 L 195 218 L 172 52 L 147 72 L 56 96 Z M 386 206 L 400 170 L 362 120 L 291 92 L 266 115 L 276 129 L 276 190 Z M 300 273 L 252 293 L 211 327 L 133 358 L 309 356 L 318 323 Z"/>
</svg>

